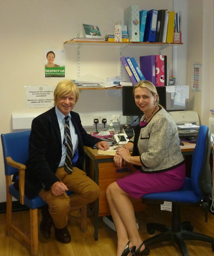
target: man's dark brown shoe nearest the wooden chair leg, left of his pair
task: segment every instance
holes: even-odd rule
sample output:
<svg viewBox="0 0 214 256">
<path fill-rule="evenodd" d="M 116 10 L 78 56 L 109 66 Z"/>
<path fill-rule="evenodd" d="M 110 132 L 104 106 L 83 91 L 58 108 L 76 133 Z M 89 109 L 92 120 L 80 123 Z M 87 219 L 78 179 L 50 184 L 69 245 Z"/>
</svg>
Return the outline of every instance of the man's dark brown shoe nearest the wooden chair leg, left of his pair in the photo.
<svg viewBox="0 0 214 256">
<path fill-rule="evenodd" d="M 42 206 L 42 221 L 40 222 L 39 229 L 45 239 L 51 236 L 51 226 L 53 225 L 52 217 L 48 210 L 48 205 Z"/>
</svg>

